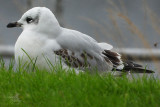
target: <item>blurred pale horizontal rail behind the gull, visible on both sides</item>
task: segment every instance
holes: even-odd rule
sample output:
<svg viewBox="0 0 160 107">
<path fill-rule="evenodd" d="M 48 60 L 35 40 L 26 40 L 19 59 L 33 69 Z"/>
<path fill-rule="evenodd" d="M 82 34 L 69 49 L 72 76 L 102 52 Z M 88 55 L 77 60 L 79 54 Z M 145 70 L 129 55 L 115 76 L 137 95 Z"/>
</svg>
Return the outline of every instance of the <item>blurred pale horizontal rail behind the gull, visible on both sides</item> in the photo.
<svg viewBox="0 0 160 107">
<path fill-rule="evenodd" d="M 152 60 L 153 58 L 160 60 L 160 49 L 144 49 L 144 48 L 118 48 L 114 51 L 122 54 L 128 59 L 134 60 Z M 0 56 L 13 57 L 14 46 L 0 46 Z"/>
</svg>

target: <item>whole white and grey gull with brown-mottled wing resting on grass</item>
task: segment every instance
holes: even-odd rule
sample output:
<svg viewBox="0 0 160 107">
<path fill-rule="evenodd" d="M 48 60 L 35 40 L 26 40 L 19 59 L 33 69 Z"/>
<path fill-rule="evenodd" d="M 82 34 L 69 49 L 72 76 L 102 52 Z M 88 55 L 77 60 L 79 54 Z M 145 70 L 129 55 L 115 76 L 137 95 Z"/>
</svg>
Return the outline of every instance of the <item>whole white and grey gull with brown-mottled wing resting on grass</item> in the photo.
<svg viewBox="0 0 160 107">
<path fill-rule="evenodd" d="M 49 64 L 56 66 L 60 63 L 62 68 L 74 68 L 77 72 L 85 69 L 153 72 L 134 62 L 122 61 L 121 55 L 112 51 L 113 46 L 108 43 L 98 43 L 84 33 L 61 27 L 46 7 L 28 10 L 20 20 L 9 23 L 7 27 L 23 29 L 15 43 L 17 64 L 34 61 L 38 68 L 50 69 Z"/>
</svg>

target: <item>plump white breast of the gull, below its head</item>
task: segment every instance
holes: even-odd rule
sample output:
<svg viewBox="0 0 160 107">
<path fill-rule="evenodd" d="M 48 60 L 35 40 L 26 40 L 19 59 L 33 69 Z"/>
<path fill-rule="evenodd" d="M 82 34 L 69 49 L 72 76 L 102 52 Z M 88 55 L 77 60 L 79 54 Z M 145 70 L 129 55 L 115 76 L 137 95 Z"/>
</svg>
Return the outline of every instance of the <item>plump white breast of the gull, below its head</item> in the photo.
<svg viewBox="0 0 160 107">
<path fill-rule="evenodd" d="M 40 66 L 48 66 L 45 57 L 51 59 L 54 63 L 54 40 L 49 40 L 40 35 L 20 35 L 15 44 L 15 60 L 22 64 L 37 60 L 36 64 Z M 56 46 L 58 47 L 58 46 Z"/>
</svg>

